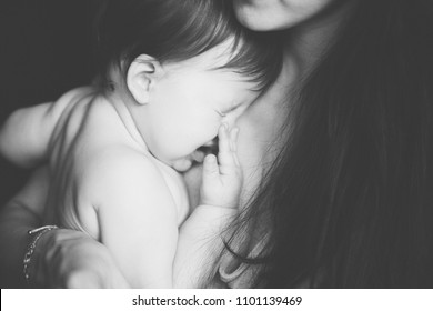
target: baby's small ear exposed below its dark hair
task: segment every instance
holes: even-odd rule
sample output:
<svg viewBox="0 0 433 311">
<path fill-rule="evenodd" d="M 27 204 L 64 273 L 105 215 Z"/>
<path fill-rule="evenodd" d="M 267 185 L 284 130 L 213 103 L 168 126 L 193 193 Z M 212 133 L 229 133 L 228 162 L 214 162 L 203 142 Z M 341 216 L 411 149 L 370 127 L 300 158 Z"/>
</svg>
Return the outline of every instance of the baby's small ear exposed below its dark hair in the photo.
<svg viewBox="0 0 433 311">
<path fill-rule="evenodd" d="M 162 74 L 161 63 L 147 54 L 134 59 L 128 69 L 127 86 L 139 104 L 149 103 L 150 91 Z"/>
</svg>

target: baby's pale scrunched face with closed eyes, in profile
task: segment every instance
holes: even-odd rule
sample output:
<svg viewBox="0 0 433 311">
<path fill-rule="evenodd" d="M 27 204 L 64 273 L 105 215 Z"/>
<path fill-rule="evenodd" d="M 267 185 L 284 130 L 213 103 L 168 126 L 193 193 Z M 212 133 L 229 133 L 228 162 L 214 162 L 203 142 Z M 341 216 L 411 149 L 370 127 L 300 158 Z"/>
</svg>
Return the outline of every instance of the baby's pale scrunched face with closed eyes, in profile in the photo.
<svg viewBox="0 0 433 311">
<path fill-rule="evenodd" d="M 221 44 L 187 61 L 164 63 L 164 76 L 150 92 L 140 124 L 150 152 L 178 171 L 202 159 L 198 148 L 209 146 L 222 123 L 231 129 L 238 117 L 259 96 L 256 84 L 226 63 L 228 47 Z"/>
</svg>

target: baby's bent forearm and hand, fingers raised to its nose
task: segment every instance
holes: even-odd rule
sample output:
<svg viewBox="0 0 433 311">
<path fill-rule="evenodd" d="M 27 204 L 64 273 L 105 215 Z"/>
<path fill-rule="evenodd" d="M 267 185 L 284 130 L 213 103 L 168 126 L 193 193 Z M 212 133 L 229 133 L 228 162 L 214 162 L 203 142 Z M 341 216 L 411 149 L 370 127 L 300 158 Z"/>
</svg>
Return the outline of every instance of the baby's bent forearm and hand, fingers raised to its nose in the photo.
<svg viewBox="0 0 433 311">
<path fill-rule="evenodd" d="M 223 247 L 223 229 L 238 214 L 242 171 L 236 157 L 238 129 L 219 130 L 218 163 L 213 154 L 203 163 L 200 205 L 180 229 L 174 261 L 174 285 L 197 288 L 211 273 L 212 259 Z"/>
</svg>

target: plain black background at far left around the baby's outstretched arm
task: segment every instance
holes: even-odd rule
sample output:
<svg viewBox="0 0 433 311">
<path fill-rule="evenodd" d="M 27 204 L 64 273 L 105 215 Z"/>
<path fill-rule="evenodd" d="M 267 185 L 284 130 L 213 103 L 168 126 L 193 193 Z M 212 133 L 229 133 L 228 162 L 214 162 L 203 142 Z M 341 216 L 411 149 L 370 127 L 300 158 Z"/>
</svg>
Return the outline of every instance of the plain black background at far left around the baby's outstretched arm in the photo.
<svg viewBox="0 0 433 311">
<path fill-rule="evenodd" d="M 0 123 L 20 107 L 56 100 L 91 81 L 95 1 L 0 1 Z M 28 174 L 0 157 L 1 205 Z"/>
</svg>

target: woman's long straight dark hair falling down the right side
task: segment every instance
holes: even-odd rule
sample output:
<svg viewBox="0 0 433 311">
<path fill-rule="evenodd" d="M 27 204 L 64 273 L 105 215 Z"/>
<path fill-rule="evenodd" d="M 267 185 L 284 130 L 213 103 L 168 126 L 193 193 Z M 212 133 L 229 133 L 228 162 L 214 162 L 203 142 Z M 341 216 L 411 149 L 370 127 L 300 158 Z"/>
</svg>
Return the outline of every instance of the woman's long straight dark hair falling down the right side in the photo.
<svg viewBox="0 0 433 311">
<path fill-rule="evenodd" d="M 269 229 L 254 287 L 433 288 L 433 2 L 355 2 L 233 224 Z"/>
</svg>

